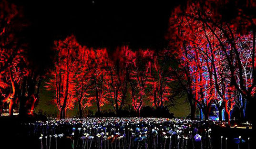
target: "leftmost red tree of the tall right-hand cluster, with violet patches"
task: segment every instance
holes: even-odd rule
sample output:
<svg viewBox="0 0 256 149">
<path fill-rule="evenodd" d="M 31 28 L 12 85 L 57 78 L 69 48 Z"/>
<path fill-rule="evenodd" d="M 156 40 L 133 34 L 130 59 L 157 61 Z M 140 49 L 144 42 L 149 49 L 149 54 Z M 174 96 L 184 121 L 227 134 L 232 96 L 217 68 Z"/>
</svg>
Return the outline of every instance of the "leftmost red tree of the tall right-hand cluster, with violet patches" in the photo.
<svg viewBox="0 0 256 149">
<path fill-rule="evenodd" d="M 179 8 L 175 9 L 177 14 L 179 11 Z M 212 68 L 209 67 L 208 57 L 205 57 L 205 47 L 201 44 L 202 30 L 198 28 L 198 22 L 191 22 L 186 16 L 176 16 L 176 13 L 170 19 L 170 31 L 175 35 L 170 38 L 170 43 L 173 44 L 172 53 L 178 61 L 178 68 L 173 70 L 174 78 L 185 87 L 191 119 L 195 119 L 197 106 L 203 110 L 207 119 L 214 92 L 211 85 L 208 85 L 212 84 Z"/>
</svg>

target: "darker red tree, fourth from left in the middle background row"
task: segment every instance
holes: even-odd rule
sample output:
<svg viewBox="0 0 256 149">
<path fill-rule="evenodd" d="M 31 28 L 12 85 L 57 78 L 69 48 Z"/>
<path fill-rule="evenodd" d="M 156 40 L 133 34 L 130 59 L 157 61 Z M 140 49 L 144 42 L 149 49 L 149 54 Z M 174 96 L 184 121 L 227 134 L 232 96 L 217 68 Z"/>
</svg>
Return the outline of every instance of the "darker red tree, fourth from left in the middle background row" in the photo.
<svg viewBox="0 0 256 149">
<path fill-rule="evenodd" d="M 128 78 L 131 72 L 130 53 L 128 46 L 118 47 L 108 61 L 107 97 L 117 114 L 125 104 L 128 91 Z"/>
</svg>

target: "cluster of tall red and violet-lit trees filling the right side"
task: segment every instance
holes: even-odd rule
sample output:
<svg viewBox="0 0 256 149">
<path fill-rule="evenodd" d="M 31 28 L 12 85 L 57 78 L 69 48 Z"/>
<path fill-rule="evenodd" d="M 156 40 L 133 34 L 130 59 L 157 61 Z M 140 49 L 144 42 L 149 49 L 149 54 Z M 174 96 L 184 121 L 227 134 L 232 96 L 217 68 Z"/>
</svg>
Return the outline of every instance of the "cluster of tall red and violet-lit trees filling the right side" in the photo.
<svg viewBox="0 0 256 149">
<path fill-rule="evenodd" d="M 227 8 L 235 13 L 225 16 Z M 255 3 L 250 0 L 189 0 L 174 9 L 166 37 L 185 72 L 179 76 L 186 78 L 191 114 L 198 106 L 207 118 L 215 103 L 219 118 L 225 107 L 229 121 L 235 103 L 243 111 L 244 99 L 255 101 L 253 10 Z"/>
</svg>

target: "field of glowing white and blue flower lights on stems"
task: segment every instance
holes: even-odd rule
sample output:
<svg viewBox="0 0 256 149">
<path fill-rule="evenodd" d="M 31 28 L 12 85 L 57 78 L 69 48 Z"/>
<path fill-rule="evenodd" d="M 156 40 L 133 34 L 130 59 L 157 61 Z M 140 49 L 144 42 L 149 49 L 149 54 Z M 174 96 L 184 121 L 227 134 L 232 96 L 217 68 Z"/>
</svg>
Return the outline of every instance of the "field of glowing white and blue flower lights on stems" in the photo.
<svg viewBox="0 0 256 149">
<path fill-rule="evenodd" d="M 226 126 L 219 121 L 114 117 L 49 118 L 22 124 L 41 149 L 234 149 L 250 145 L 248 134 L 242 131 L 236 134 L 241 136 L 221 132 Z"/>
</svg>

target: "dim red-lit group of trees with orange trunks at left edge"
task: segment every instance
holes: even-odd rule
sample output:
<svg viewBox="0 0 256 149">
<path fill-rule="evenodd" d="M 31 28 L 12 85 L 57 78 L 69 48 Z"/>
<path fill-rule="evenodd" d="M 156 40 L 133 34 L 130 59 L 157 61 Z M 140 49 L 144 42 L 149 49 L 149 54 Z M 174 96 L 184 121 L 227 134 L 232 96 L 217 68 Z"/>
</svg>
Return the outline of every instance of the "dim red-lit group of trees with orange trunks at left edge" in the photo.
<svg viewBox="0 0 256 149">
<path fill-rule="evenodd" d="M 9 115 L 19 108 L 21 116 L 33 114 L 43 71 L 29 61 L 29 44 L 22 40 L 28 24 L 16 5 L 0 2 L 0 111 L 8 107 Z"/>
</svg>

